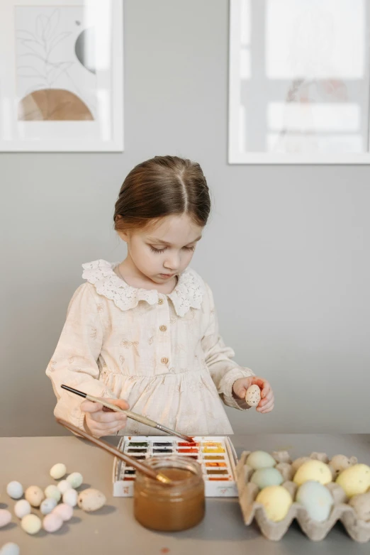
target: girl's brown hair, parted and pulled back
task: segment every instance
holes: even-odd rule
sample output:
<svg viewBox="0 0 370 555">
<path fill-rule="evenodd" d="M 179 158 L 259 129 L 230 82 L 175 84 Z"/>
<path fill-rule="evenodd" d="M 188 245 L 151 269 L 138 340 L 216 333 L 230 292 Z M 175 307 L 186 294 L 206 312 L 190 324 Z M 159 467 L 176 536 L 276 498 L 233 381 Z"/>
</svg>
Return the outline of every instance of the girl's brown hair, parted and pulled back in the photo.
<svg viewBox="0 0 370 555">
<path fill-rule="evenodd" d="M 188 214 L 205 226 L 211 210 L 201 166 L 177 156 L 155 156 L 130 171 L 114 211 L 114 229 L 142 229 L 169 214 Z"/>
</svg>

